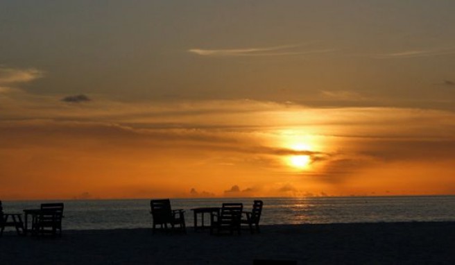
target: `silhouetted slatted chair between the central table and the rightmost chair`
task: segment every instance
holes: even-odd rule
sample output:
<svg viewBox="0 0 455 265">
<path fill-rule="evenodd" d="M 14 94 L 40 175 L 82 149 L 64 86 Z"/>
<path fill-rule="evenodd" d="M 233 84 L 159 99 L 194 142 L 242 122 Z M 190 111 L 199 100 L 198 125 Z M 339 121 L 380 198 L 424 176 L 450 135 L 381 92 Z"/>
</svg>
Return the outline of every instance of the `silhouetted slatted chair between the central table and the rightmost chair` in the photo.
<svg viewBox="0 0 455 265">
<path fill-rule="evenodd" d="M 229 234 L 240 232 L 241 213 L 243 210 L 242 203 L 223 203 L 220 212 L 210 214 L 210 234 L 223 234 L 225 231 Z"/>
</svg>

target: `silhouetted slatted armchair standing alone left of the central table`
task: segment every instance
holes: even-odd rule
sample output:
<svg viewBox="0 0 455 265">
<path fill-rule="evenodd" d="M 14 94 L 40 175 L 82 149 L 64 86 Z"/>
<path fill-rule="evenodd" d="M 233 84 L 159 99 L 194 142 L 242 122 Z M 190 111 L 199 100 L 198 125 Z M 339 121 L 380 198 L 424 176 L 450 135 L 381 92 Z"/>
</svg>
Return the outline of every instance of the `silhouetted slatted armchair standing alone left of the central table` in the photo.
<svg viewBox="0 0 455 265">
<path fill-rule="evenodd" d="M 171 210 L 171 200 L 151 200 L 151 214 L 153 219 L 153 234 L 156 232 L 157 225 L 164 230 L 168 230 L 168 224 L 174 229 L 175 225 L 180 225 L 180 230 L 184 233 L 187 228 L 184 221 L 184 210 Z"/>
</svg>

